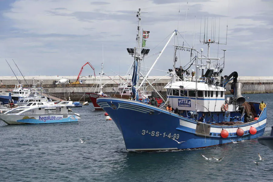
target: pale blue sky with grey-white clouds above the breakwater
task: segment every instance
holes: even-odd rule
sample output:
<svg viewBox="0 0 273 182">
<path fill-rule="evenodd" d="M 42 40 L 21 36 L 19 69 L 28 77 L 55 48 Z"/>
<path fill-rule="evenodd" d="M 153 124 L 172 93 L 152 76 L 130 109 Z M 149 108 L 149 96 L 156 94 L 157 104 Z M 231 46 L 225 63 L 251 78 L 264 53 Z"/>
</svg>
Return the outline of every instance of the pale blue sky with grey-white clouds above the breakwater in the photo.
<svg viewBox="0 0 273 182">
<path fill-rule="evenodd" d="M 207 54 L 200 37 L 208 17 L 208 38 L 215 32 L 216 42 L 224 43 L 211 45 L 210 56 L 223 57 L 221 49 L 227 49 L 225 75 L 237 71 L 239 76 L 273 76 L 271 0 L 0 0 L 0 75 L 13 75 L 5 60 L 20 75 L 12 59 L 26 76 L 77 76 L 86 62 L 96 74 L 104 62 L 107 75 L 125 75 L 133 62 L 126 48 L 136 46 L 138 22 L 133 12 L 138 8 L 148 12 L 141 14 L 141 29 L 150 31 L 150 52 L 142 66 L 153 64 L 175 29 L 176 43 L 185 41 Z M 155 69 L 172 68 L 174 40 Z M 178 54 L 176 65 L 187 67 L 189 52 Z M 87 65 L 82 75 L 93 75 L 93 70 Z"/>
</svg>

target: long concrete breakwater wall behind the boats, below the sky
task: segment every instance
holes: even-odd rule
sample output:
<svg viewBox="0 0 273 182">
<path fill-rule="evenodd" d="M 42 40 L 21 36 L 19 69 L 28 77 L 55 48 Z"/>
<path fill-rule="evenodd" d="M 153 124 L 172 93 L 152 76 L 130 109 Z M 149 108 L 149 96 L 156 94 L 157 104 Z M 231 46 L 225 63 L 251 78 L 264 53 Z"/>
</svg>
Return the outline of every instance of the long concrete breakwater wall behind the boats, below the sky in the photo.
<svg viewBox="0 0 273 182">
<path fill-rule="evenodd" d="M 26 76 L 26 82 L 29 84 L 29 86 L 37 86 L 37 87 L 43 87 L 46 92 L 53 93 L 62 97 L 68 97 L 70 96 L 72 100 L 85 100 L 89 101 L 89 98 L 87 96 L 83 96 L 86 92 L 95 92 L 98 91 L 96 89 L 98 78 L 89 78 L 89 76 L 82 76 L 80 79 L 83 80 L 83 84 L 60 84 L 55 85 L 52 84 L 54 80 L 63 79 L 63 78 L 70 78 L 70 81 L 75 81 L 76 76 Z M 73 79 L 74 80 L 73 80 Z M 22 76 L 20 77 L 20 82 L 25 84 L 24 79 Z M 112 80 L 111 80 L 112 79 Z M 127 79 L 127 77 L 120 78 L 119 76 L 111 76 L 111 79 L 103 76 L 102 78 L 102 84 L 103 86 L 103 92 L 106 94 L 114 94 L 115 91 L 118 89 L 118 86 L 120 83 L 124 82 L 123 79 Z M 130 79 L 130 78 L 129 78 Z M 142 78 L 140 78 L 142 79 Z M 191 80 L 191 77 L 189 78 Z M 194 80 L 194 78 L 193 78 Z M 244 84 L 242 93 L 272 93 L 273 92 L 273 76 L 267 77 L 267 76 L 259 76 L 259 77 L 253 77 L 253 76 L 239 76 L 238 82 L 241 82 Z M 1 81 L 1 88 L 0 92 L 6 92 L 10 91 L 14 88 L 15 84 L 18 84 L 18 81 L 14 76 L 0 76 Z M 24 81 L 24 82 L 23 82 Z M 167 92 L 164 89 L 164 86 L 170 81 L 169 76 L 161 77 L 161 76 L 149 76 L 148 81 L 150 83 L 153 83 L 153 86 L 163 95 L 167 96 Z M 146 84 L 148 85 L 148 84 Z M 153 95 L 156 96 L 155 92 L 153 92 L 153 89 L 150 86 L 147 86 L 148 91 L 152 91 Z M 230 90 L 230 84 L 226 85 L 226 94 L 229 94 Z"/>
</svg>

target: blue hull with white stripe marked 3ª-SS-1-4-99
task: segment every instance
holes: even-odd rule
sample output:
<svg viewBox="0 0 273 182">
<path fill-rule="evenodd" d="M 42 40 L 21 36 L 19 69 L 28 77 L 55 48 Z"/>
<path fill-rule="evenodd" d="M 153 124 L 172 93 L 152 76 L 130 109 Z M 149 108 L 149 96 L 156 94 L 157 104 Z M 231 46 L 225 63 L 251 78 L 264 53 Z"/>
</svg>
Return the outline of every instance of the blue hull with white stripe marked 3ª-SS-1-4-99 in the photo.
<svg viewBox="0 0 273 182">
<path fill-rule="evenodd" d="M 266 125 L 266 109 L 256 121 L 232 126 L 211 124 L 210 132 L 206 133 L 197 128 L 208 127 L 208 124 L 149 104 L 116 98 L 98 98 L 97 103 L 116 123 L 126 149 L 133 151 L 192 149 L 250 140 L 262 136 Z M 257 130 L 254 135 L 249 133 L 251 126 Z M 238 128 L 244 130 L 243 136 L 236 135 Z M 222 129 L 228 131 L 227 138 L 221 137 Z M 184 142 L 179 144 L 173 139 Z"/>
</svg>

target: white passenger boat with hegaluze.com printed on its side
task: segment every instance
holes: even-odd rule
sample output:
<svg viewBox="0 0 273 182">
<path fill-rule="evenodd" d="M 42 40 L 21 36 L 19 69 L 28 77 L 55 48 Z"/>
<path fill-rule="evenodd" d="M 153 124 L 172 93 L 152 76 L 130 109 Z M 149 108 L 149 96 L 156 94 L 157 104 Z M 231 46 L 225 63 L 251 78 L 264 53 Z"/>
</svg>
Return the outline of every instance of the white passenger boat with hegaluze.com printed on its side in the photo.
<svg viewBox="0 0 273 182">
<path fill-rule="evenodd" d="M 52 104 L 30 102 L 26 106 L 16 107 L 0 114 L 0 120 L 7 124 L 39 124 L 77 122 L 81 117 L 68 112 L 67 107 L 74 104 Z"/>
</svg>

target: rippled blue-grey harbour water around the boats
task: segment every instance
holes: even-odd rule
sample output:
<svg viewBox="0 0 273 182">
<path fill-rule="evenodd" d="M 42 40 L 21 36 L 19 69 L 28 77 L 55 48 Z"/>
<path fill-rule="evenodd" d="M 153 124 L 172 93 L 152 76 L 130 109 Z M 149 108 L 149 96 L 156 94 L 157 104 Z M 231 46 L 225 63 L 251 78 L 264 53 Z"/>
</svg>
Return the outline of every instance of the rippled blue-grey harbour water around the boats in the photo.
<svg viewBox="0 0 273 182">
<path fill-rule="evenodd" d="M 273 94 L 247 94 L 268 103 Z M 120 131 L 92 103 L 75 123 L 0 123 L 0 181 L 273 181 L 273 151 L 257 139 L 196 150 L 127 152 Z M 80 143 L 79 138 L 88 140 Z M 222 161 L 206 157 L 224 157 Z M 264 161 L 258 160 L 258 153 Z M 256 165 L 253 161 L 260 162 Z"/>
</svg>

